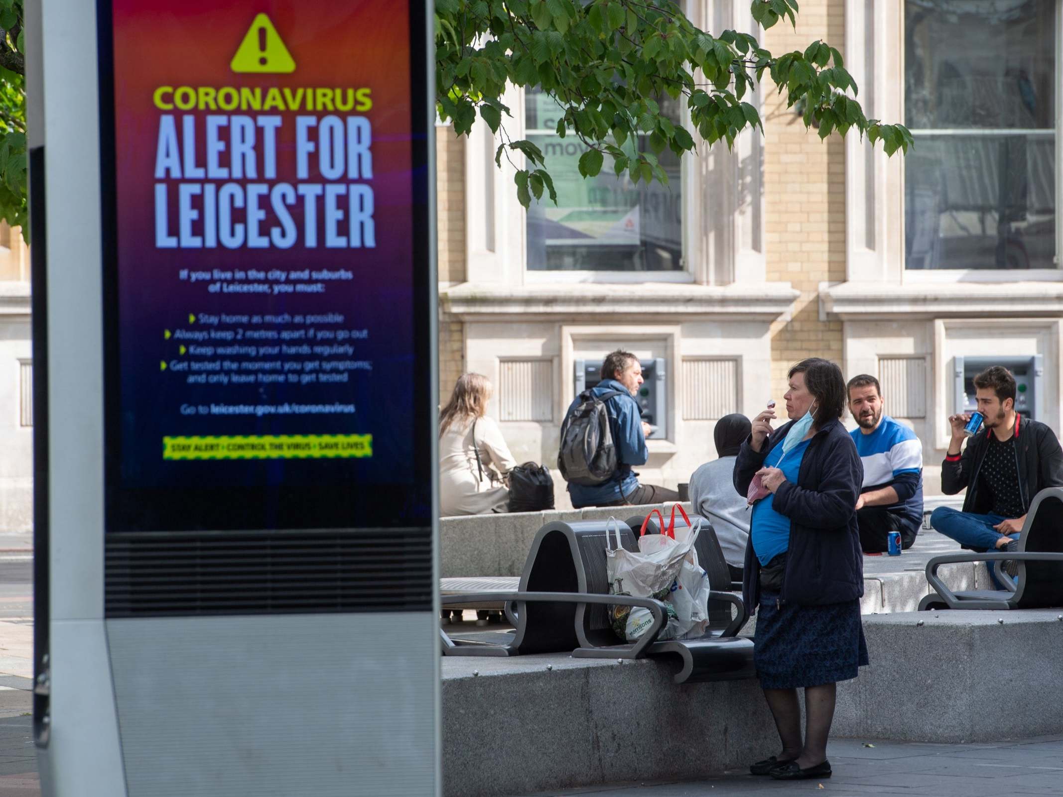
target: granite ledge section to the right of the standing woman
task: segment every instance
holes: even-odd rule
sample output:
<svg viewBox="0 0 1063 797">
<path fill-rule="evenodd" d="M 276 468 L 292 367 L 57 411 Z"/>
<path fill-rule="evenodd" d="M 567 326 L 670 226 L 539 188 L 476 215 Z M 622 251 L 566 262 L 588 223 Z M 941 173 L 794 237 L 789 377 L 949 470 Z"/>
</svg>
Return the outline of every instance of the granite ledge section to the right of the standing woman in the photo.
<svg viewBox="0 0 1063 797">
<path fill-rule="evenodd" d="M 959 743 L 1063 733 L 1060 617 L 1063 609 L 865 616 L 871 666 L 839 684 L 833 734 Z"/>
</svg>

